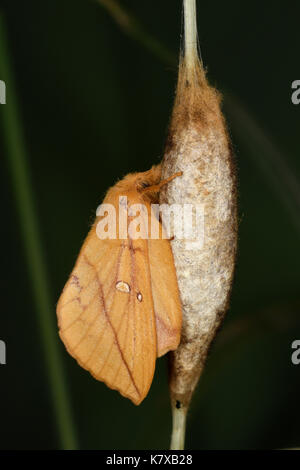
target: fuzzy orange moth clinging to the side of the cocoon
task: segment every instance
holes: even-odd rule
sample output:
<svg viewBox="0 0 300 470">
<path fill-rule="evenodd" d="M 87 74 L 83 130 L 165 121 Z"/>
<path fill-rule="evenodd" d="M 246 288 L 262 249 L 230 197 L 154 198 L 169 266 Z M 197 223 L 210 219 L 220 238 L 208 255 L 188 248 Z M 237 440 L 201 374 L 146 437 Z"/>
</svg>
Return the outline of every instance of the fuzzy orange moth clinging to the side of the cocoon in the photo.
<svg viewBox="0 0 300 470">
<path fill-rule="evenodd" d="M 160 189 L 180 175 L 161 181 L 160 165 L 129 174 L 108 190 L 104 207 L 112 206 L 117 222 L 124 223 L 125 215 L 130 225 L 132 209 L 142 205 L 146 212 L 140 216 L 150 224 Z M 156 239 L 125 237 L 119 223 L 116 236 L 105 239 L 97 232 L 105 215 L 96 217 L 58 301 L 59 335 L 84 369 L 139 405 L 151 386 L 156 358 L 180 342 L 173 254 L 159 218 Z"/>
</svg>

